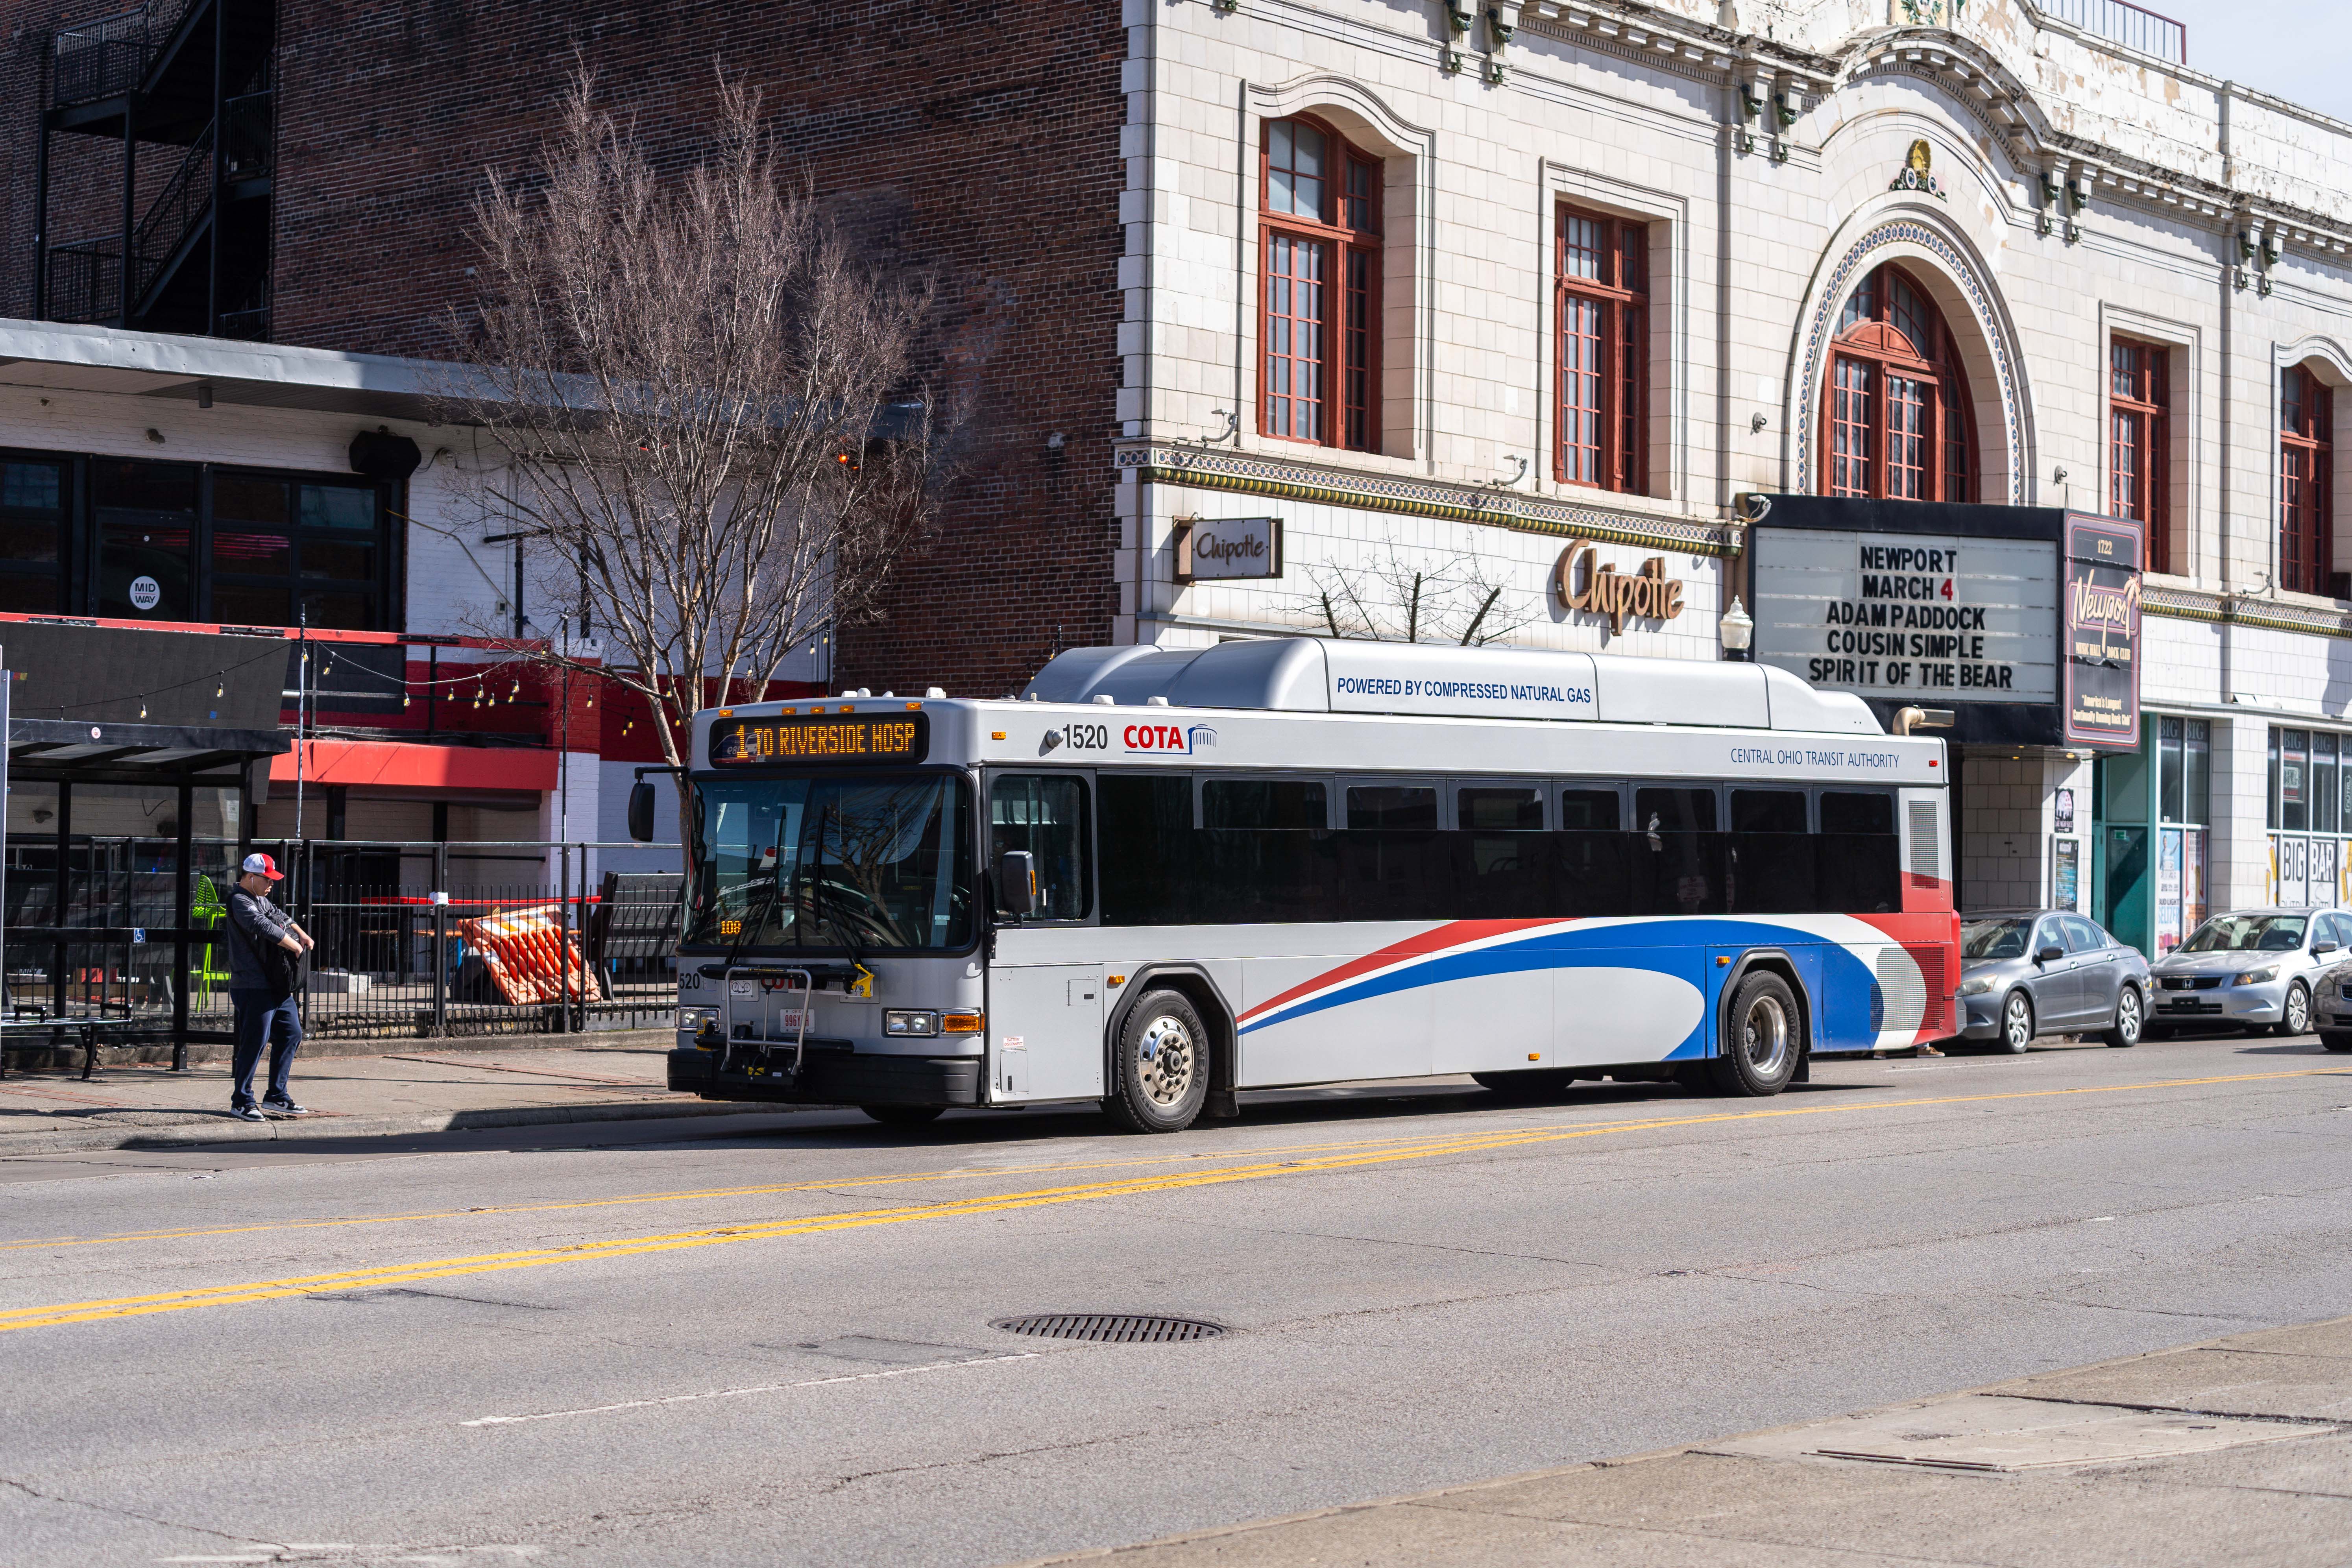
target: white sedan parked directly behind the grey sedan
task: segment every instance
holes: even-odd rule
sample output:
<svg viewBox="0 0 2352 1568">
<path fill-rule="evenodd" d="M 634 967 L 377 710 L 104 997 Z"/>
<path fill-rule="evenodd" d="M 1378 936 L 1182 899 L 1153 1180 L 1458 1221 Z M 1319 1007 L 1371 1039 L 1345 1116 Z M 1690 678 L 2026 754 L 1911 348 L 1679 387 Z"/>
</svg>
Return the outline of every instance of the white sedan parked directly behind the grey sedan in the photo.
<svg viewBox="0 0 2352 1568">
<path fill-rule="evenodd" d="M 2328 954 L 2352 945 L 2352 914 L 2232 910 L 2190 931 L 2154 964 L 2150 1023 L 2211 1023 L 2303 1034 Z M 2338 987 L 2340 990 L 2340 987 Z"/>
</svg>

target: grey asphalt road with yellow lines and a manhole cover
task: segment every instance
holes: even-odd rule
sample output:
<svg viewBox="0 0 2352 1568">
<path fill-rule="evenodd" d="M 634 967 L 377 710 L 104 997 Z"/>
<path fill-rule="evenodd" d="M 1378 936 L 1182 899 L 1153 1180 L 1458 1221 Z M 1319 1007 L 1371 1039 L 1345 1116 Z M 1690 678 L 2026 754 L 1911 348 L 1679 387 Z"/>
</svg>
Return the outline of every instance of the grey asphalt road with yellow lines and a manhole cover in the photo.
<svg viewBox="0 0 2352 1568">
<path fill-rule="evenodd" d="M 0 1161 L 0 1563 L 1002 1563 L 2352 1312 L 2310 1039 L 1244 1110 Z"/>
</svg>

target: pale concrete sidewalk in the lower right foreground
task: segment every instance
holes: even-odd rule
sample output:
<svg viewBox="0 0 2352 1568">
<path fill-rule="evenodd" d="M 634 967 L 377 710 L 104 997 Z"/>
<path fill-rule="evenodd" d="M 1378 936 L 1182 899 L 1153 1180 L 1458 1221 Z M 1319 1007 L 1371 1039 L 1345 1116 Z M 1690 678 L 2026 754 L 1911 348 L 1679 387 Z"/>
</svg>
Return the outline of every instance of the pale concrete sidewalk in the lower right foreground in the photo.
<svg viewBox="0 0 2352 1568">
<path fill-rule="evenodd" d="M 1044 1563 L 2352 1561 L 2352 1319 Z"/>
</svg>

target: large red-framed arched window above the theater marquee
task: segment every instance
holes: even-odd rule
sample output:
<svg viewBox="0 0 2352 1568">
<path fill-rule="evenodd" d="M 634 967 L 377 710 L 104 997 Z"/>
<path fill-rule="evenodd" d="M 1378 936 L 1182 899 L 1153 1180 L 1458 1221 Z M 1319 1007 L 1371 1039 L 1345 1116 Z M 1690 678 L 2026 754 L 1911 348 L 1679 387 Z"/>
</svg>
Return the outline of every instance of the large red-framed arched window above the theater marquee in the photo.
<svg viewBox="0 0 2352 1568">
<path fill-rule="evenodd" d="M 1926 289 L 1882 266 L 1837 320 L 1823 473 L 1832 496 L 1973 501 L 1976 418 Z"/>
</svg>

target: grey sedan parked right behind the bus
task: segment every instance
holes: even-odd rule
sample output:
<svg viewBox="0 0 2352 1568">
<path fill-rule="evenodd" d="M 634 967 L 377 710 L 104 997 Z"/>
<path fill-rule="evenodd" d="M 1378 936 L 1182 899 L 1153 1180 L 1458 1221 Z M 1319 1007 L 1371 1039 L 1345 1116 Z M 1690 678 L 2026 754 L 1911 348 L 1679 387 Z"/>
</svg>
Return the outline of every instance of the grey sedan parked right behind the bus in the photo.
<svg viewBox="0 0 2352 1568">
<path fill-rule="evenodd" d="M 1959 926 L 1959 1039 L 2025 1051 L 2034 1034 L 2140 1044 L 2147 959 L 2072 910 L 1971 914 Z"/>
</svg>

